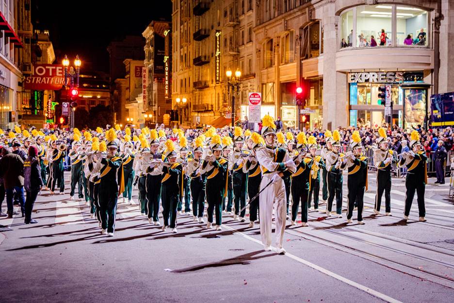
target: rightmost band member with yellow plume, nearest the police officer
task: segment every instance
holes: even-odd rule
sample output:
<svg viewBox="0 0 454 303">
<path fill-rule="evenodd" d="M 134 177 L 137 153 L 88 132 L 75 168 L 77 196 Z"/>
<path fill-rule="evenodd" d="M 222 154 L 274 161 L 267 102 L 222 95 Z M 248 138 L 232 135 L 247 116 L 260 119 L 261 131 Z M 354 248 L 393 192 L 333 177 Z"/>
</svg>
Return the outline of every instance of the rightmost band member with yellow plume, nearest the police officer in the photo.
<svg viewBox="0 0 454 303">
<path fill-rule="evenodd" d="M 405 165 L 407 167 L 404 219 L 408 220 L 416 191 L 418 195 L 419 220 L 425 222 L 424 191 L 425 185 L 427 184 L 427 156 L 421 150 L 421 143 L 419 142 L 420 135 L 417 131 L 411 132 L 410 139 L 408 146 L 411 148 L 411 151 L 404 152 L 399 162 L 399 166 Z"/>
</svg>

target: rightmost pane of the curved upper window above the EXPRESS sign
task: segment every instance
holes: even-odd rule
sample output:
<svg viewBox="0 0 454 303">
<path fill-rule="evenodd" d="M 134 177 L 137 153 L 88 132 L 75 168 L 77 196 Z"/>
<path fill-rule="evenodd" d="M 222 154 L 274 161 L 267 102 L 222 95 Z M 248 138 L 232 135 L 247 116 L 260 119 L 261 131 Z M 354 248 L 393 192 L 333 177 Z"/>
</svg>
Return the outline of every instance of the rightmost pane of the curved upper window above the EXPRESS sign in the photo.
<svg viewBox="0 0 454 303">
<path fill-rule="evenodd" d="M 416 7 L 396 7 L 396 44 L 397 45 L 428 45 L 427 12 Z"/>
</svg>

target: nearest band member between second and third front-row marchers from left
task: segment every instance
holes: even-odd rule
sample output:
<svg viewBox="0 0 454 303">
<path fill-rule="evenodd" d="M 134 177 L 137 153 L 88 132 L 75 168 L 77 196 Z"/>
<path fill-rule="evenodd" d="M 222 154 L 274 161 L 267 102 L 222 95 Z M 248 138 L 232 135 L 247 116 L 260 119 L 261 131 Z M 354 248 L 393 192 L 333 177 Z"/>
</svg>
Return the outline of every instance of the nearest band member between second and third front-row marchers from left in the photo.
<svg viewBox="0 0 454 303">
<path fill-rule="evenodd" d="M 201 173 L 202 154 L 204 148 L 204 137 L 198 136 L 195 139 L 194 158 L 188 159 L 187 174 L 191 178 L 191 196 L 193 203 L 193 219 L 199 223 L 203 220 L 203 210 L 205 208 L 205 189 L 207 185 L 206 174 Z"/>
</svg>

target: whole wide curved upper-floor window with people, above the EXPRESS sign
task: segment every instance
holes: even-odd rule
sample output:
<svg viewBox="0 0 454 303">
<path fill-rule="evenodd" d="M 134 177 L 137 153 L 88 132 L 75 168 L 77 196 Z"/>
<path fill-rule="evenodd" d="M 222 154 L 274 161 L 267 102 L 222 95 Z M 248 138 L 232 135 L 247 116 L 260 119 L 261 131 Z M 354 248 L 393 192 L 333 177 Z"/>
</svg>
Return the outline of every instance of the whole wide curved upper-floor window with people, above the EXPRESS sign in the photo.
<svg viewBox="0 0 454 303">
<path fill-rule="evenodd" d="M 393 11 L 393 8 L 395 10 Z M 396 22 L 395 44 L 392 41 Z M 428 12 L 400 5 L 363 5 L 340 15 L 340 48 L 428 46 Z M 355 29 L 356 33 L 353 33 Z"/>
</svg>

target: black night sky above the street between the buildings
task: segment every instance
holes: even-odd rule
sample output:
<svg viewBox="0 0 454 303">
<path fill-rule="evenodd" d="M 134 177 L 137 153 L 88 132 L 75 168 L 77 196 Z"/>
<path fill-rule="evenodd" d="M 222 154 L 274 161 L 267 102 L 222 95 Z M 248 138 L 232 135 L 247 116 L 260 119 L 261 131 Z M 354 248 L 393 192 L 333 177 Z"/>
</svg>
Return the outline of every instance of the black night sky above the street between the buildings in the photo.
<svg viewBox="0 0 454 303">
<path fill-rule="evenodd" d="M 48 29 L 57 61 L 76 54 L 82 66 L 109 72 L 109 42 L 142 35 L 152 20 L 171 21 L 171 0 L 32 0 L 35 29 Z"/>
</svg>

